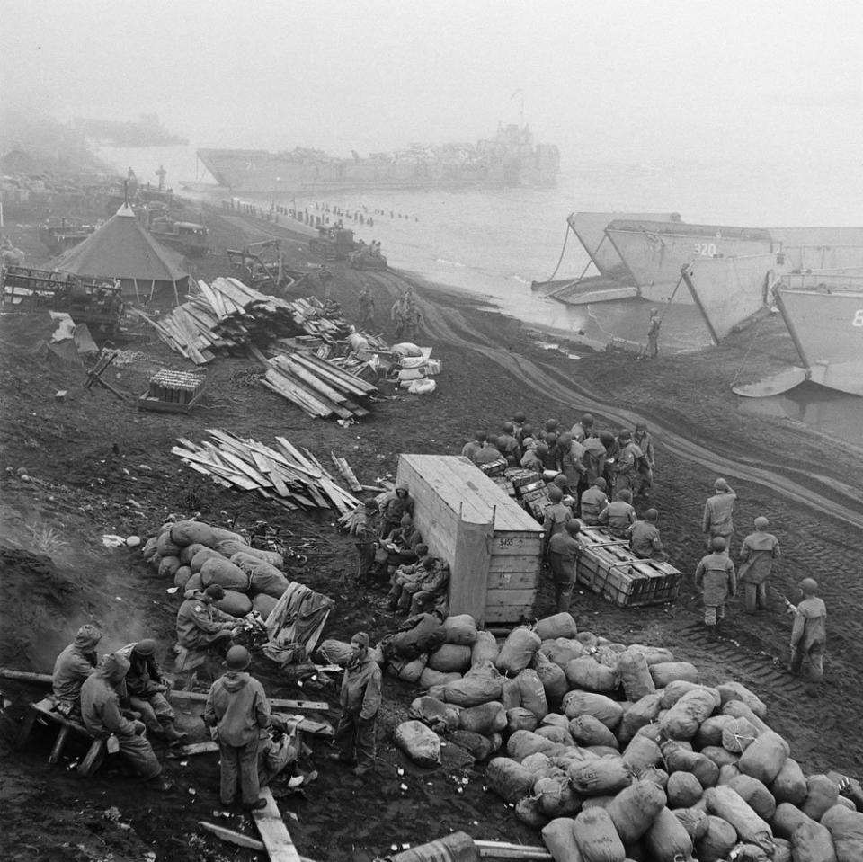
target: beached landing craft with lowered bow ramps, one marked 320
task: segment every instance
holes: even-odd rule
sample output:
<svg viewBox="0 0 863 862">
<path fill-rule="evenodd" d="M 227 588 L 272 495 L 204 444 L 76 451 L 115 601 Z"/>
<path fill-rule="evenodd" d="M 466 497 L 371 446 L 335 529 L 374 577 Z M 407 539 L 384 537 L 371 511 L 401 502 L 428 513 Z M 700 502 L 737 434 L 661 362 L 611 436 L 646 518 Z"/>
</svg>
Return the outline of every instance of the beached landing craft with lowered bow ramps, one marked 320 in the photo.
<svg viewBox="0 0 863 862">
<path fill-rule="evenodd" d="M 599 275 L 585 277 L 585 267 L 532 289 L 576 306 L 695 305 L 716 344 L 775 306 L 803 366 L 783 371 L 781 387 L 809 379 L 863 395 L 863 227 L 691 225 L 677 213 L 622 212 L 578 212 L 567 223 Z"/>
</svg>

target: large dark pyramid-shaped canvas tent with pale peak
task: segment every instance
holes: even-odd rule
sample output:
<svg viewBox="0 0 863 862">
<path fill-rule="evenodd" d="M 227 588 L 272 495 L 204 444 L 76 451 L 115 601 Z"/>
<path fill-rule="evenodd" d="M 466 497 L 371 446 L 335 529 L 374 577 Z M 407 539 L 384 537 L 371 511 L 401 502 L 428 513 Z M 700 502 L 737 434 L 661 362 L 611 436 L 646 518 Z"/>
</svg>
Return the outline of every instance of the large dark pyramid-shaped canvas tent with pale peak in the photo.
<svg viewBox="0 0 863 862">
<path fill-rule="evenodd" d="M 138 300 L 170 291 L 179 302 L 180 291 L 189 286 L 182 256 L 149 235 L 127 204 L 49 265 L 82 278 L 119 279 L 123 295 Z"/>
</svg>

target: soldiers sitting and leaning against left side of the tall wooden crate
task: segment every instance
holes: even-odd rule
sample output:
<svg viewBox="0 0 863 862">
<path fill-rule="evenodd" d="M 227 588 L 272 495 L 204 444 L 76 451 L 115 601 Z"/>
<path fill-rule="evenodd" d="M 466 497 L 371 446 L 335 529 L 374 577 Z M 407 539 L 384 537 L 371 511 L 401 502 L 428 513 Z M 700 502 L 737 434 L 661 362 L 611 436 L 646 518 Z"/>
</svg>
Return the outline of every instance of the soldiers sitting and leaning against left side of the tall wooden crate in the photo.
<svg viewBox="0 0 863 862">
<path fill-rule="evenodd" d="M 405 485 L 378 504 L 366 500 L 354 512 L 351 535 L 359 555 L 357 581 L 389 583 L 387 609 L 410 616 L 445 600 L 449 564 L 429 554 L 414 525 L 414 499 Z"/>
</svg>

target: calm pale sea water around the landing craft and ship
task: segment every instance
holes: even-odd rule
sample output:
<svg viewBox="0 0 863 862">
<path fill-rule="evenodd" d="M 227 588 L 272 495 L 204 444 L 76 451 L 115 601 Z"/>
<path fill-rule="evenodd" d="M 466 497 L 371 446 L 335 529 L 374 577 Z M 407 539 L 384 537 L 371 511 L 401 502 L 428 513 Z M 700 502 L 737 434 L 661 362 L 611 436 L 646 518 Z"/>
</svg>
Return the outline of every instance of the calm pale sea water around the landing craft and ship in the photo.
<svg viewBox="0 0 863 862">
<path fill-rule="evenodd" d="M 132 166 L 141 182 L 157 182 L 155 172 L 164 165 L 166 182 L 176 191 L 180 180 L 211 181 L 194 147 L 105 148 L 101 155 L 122 172 Z M 834 164 L 823 155 L 807 156 L 805 163 L 783 156 L 768 163 L 640 165 L 565 155 L 563 163 L 554 189 L 362 191 L 272 200 L 318 215 L 322 210 L 316 205 L 371 215 L 373 227 L 350 218 L 345 225 L 367 242 L 379 240 L 392 266 L 466 289 L 527 324 L 553 326 L 595 346 L 612 338 L 633 346 L 645 342 L 650 306 L 629 300 L 570 307 L 531 291 L 532 280 L 555 271 L 564 250 L 565 219 L 574 210 L 677 211 L 692 223 L 746 227 L 863 224 L 860 165 Z M 265 209 L 271 203 L 266 196 L 244 200 Z M 570 234 L 556 277 L 578 276 L 588 262 Z M 695 307 L 663 311 L 664 351 L 707 346 Z M 832 404 L 829 390 L 822 395 Z M 850 424 L 860 427 L 863 421 L 863 399 L 841 396 L 834 411 L 819 395 L 819 404 L 817 411 L 801 411 L 799 402 L 786 401 L 779 412 L 845 439 Z"/>
</svg>

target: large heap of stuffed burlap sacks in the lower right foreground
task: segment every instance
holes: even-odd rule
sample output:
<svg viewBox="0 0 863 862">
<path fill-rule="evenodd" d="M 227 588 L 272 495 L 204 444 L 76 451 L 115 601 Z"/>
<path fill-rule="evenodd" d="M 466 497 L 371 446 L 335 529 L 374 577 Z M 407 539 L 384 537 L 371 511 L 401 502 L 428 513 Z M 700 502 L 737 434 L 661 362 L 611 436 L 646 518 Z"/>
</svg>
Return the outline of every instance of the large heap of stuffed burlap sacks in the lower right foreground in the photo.
<svg viewBox="0 0 863 862">
<path fill-rule="evenodd" d="M 472 623 L 449 618 L 413 660 L 428 693 L 396 744 L 433 765 L 441 738 L 477 760 L 505 741 L 485 784 L 556 862 L 863 862 L 859 785 L 805 776 L 740 683 L 701 685 L 668 650 L 578 632 L 566 613 L 501 644 Z"/>
</svg>

